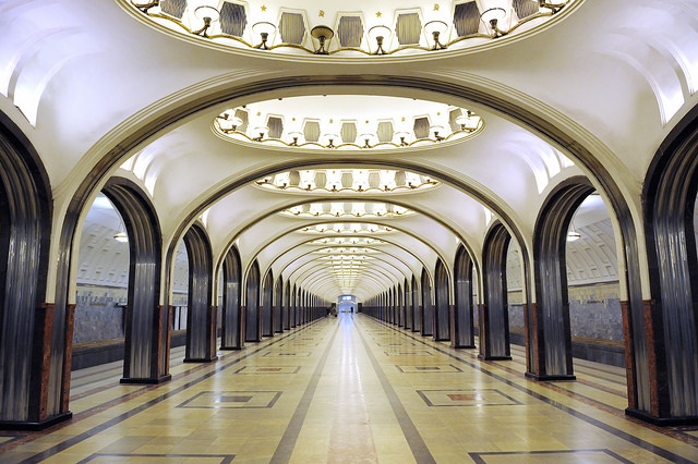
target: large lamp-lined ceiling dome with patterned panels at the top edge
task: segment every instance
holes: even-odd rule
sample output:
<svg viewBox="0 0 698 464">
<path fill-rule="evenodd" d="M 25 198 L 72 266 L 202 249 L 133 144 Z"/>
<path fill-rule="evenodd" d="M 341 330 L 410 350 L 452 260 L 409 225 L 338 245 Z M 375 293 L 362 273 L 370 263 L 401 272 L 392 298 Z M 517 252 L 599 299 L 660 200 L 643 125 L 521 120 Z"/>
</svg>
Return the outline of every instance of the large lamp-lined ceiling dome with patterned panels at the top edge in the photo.
<svg viewBox="0 0 698 464">
<path fill-rule="evenodd" d="M 230 48 L 278 54 L 390 56 L 464 49 L 520 35 L 557 17 L 576 0 L 472 0 L 453 9 L 388 2 L 353 4 L 359 12 L 324 5 L 315 17 L 305 4 L 231 0 L 121 0 L 142 21 L 180 36 Z M 365 4 L 361 4 L 365 3 Z M 394 3 L 394 4 L 390 4 Z M 336 17 L 334 29 L 327 24 Z M 309 19 L 312 19 L 309 22 Z"/>
</svg>

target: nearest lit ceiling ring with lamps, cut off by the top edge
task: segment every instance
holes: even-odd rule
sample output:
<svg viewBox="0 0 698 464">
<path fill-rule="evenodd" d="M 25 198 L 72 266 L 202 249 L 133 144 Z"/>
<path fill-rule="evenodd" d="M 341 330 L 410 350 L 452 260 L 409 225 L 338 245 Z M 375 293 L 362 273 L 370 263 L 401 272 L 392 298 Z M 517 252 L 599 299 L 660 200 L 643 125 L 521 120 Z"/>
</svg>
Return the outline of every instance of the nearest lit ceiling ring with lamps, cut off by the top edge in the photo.
<svg viewBox="0 0 698 464">
<path fill-rule="evenodd" d="M 300 36 L 285 40 L 284 34 L 277 33 L 277 30 L 284 29 L 280 17 L 279 24 L 274 24 L 269 21 L 268 15 L 261 15 L 256 9 L 255 12 L 250 11 L 252 5 L 241 5 L 222 0 L 200 0 L 192 2 L 191 5 L 186 2 L 172 2 L 171 0 L 152 0 L 149 2 L 121 0 L 121 2 L 141 20 L 157 23 L 179 35 L 196 37 L 200 40 L 215 42 L 224 47 L 246 48 L 264 53 L 285 53 L 290 57 L 299 53 L 385 57 L 400 52 L 413 53 L 414 51 L 434 53 L 449 48 L 462 49 L 469 45 L 496 40 L 526 29 L 527 27 L 522 27 L 525 25 L 533 24 L 533 27 L 528 27 L 531 29 L 547 23 L 574 0 L 557 0 L 557 2 L 480 0 L 481 4 L 476 5 L 474 10 L 469 12 L 459 12 L 458 8 L 453 12 L 446 9 L 430 11 L 431 21 L 423 20 L 426 12 L 423 12 L 419 7 L 417 9 L 400 9 L 396 11 L 395 22 L 389 23 L 394 24 L 393 27 L 384 24 L 384 20 L 381 17 L 364 21 L 362 16 L 353 15 L 359 17 L 360 24 L 347 26 L 349 29 L 361 30 L 354 35 L 353 40 L 345 37 L 341 24 L 336 26 L 339 28 L 338 30 L 334 30 L 320 23 L 308 25 L 303 23 Z M 476 4 L 476 2 L 464 3 Z M 232 4 L 232 8 L 237 8 L 238 11 L 226 11 L 224 14 L 224 9 L 231 9 L 231 7 L 226 7 L 227 4 Z M 266 5 L 262 7 L 263 12 L 266 13 Z M 500 10 L 502 14 L 492 15 L 493 11 Z M 302 13 L 299 10 L 292 14 Z M 352 15 L 344 14 L 344 16 L 351 17 Z M 407 22 L 400 27 L 399 16 L 413 17 L 406 19 Z M 324 21 L 324 14 L 322 17 Z M 366 17 L 369 16 L 366 15 Z M 405 29 L 409 29 L 409 32 L 406 33 Z M 344 42 L 342 37 L 345 37 Z M 333 38 L 335 39 L 333 40 Z"/>
</svg>

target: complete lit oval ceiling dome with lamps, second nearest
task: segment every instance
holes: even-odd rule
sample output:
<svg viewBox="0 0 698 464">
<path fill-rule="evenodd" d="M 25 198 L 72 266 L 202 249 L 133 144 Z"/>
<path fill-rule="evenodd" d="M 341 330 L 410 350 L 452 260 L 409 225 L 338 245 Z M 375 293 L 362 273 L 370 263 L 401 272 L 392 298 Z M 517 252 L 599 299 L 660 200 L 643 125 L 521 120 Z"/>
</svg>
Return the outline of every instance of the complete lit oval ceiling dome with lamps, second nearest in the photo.
<svg viewBox="0 0 698 464">
<path fill-rule="evenodd" d="M 279 98 L 229 108 L 214 132 L 272 147 L 365 150 L 462 142 L 484 130 L 473 111 L 410 98 L 324 95 Z"/>
</svg>

